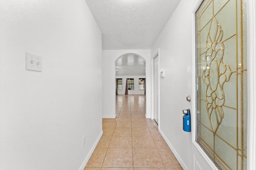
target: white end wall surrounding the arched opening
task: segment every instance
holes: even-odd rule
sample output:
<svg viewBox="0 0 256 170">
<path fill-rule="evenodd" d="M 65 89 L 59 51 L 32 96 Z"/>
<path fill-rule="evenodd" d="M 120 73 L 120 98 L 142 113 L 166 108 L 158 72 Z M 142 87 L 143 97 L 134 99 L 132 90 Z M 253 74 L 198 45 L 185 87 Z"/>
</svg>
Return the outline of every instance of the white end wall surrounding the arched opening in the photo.
<svg viewBox="0 0 256 170">
<path fill-rule="evenodd" d="M 146 60 L 146 117 L 151 115 L 150 50 L 102 50 L 102 117 L 116 117 L 115 61 L 123 54 L 136 53 Z"/>
</svg>

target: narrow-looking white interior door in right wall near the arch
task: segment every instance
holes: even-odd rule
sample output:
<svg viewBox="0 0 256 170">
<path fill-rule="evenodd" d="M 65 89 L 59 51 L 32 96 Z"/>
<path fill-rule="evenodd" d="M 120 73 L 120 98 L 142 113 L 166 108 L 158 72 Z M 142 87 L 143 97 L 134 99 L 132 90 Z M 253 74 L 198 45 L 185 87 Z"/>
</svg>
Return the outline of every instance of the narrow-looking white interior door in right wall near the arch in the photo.
<svg viewBox="0 0 256 170">
<path fill-rule="evenodd" d="M 158 55 L 154 58 L 154 120 L 159 118 L 159 62 Z"/>
</svg>

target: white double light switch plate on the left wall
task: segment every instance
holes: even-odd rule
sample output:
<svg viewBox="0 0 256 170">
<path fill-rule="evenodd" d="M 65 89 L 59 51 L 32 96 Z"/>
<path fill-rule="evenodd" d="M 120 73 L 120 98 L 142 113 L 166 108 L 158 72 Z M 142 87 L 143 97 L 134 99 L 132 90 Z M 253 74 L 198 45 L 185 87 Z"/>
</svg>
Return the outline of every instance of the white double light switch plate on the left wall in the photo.
<svg viewBox="0 0 256 170">
<path fill-rule="evenodd" d="M 26 52 L 26 69 L 42 71 L 42 57 Z"/>
</svg>

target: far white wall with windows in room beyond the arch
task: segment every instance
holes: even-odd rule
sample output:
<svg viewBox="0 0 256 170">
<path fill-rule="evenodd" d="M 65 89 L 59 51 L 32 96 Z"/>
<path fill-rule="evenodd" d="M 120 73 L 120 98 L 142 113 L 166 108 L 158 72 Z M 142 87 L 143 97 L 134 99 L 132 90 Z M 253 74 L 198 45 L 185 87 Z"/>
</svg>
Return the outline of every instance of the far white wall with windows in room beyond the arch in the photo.
<svg viewBox="0 0 256 170">
<path fill-rule="evenodd" d="M 139 79 L 146 78 L 145 75 L 127 75 L 127 76 L 116 76 L 116 79 L 122 79 L 122 90 L 118 90 L 118 95 L 124 95 L 125 94 L 125 88 L 126 88 L 126 79 L 134 79 L 134 90 L 128 90 L 128 95 L 144 95 L 145 90 L 139 90 Z"/>
</svg>

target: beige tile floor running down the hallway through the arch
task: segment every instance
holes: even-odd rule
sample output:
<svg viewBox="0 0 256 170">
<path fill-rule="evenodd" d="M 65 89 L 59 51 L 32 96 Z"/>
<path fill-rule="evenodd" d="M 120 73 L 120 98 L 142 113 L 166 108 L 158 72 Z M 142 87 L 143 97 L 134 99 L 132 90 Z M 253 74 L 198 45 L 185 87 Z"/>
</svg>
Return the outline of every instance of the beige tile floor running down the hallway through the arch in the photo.
<svg viewBox="0 0 256 170">
<path fill-rule="evenodd" d="M 145 95 L 116 95 L 116 119 L 102 119 L 103 135 L 84 170 L 182 170 L 157 124 L 145 117 Z"/>
</svg>

